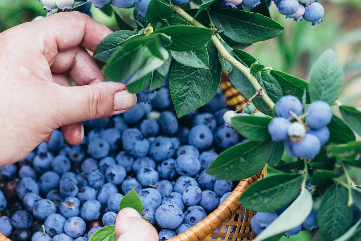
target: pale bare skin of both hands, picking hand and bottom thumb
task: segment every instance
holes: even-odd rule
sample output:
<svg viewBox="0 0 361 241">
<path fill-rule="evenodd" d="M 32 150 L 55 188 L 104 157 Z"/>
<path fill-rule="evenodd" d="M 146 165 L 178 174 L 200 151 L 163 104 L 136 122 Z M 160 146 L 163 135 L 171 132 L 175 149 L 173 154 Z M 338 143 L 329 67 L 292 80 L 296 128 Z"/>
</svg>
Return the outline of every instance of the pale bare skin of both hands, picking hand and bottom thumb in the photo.
<svg viewBox="0 0 361 241">
<path fill-rule="evenodd" d="M 17 162 L 61 127 L 79 144 L 85 120 L 127 111 L 136 103 L 125 85 L 105 82 L 87 50 L 112 33 L 79 12 L 57 13 L 0 34 L 0 167 Z M 77 87 L 70 87 L 70 76 Z M 158 240 L 131 208 L 117 215 L 118 241 Z"/>
</svg>

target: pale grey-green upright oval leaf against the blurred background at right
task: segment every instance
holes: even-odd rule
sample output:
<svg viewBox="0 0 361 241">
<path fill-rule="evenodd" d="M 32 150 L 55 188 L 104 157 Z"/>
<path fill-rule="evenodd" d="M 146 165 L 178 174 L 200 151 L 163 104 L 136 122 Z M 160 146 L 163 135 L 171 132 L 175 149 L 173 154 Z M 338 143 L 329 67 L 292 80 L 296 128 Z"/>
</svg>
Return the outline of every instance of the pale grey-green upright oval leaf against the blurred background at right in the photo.
<svg viewBox="0 0 361 241">
<path fill-rule="evenodd" d="M 329 49 L 313 64 L 309 76 L 309 91 L 312 101 L 323 100 L 330 105 L 339 97 L 343 88 L 343 69 L 336 53 Z"/>
</svg>

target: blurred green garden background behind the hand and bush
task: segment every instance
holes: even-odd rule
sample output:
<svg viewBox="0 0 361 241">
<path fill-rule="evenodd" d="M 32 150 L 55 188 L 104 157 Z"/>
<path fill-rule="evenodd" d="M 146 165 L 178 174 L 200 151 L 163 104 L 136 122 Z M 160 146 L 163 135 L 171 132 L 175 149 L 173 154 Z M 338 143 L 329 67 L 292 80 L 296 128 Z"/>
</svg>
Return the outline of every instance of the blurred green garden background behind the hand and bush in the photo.
<svg viewBox="0 0 361 241">
<path fill-rule="evenodd" d="M 339 98 L 342 104 L 361 106 L 361 0 L 319 0 L 325 7 L 323 22 L 312 26 L 280 15 L 272 3 L 271 16 L 285 27 L 277 38 L 255 43 L 245 51 L 260 63 L 307 80 L 310 67 L 327 48 L 333 48 L 345 72 L 345 87 Z M 124 9 L 128 16 L 131 10 Z M 114 15 L 107 16 L 92 7 L 93 18 L 118 30 Z M 38 0 L 0 0 L 0 32 L 36 16 L 45 16 Z M 66 34 L 66 26 L 64 26 Z M 359 138 L 360 139 L 360 138 Z M 357 175 L 359 176 L 359 175 Z M 295 217 L 296 218 L 296 217 Z M 281 241 L 310 241 L 310 232 L 300 232 Z"/>
</svg>

